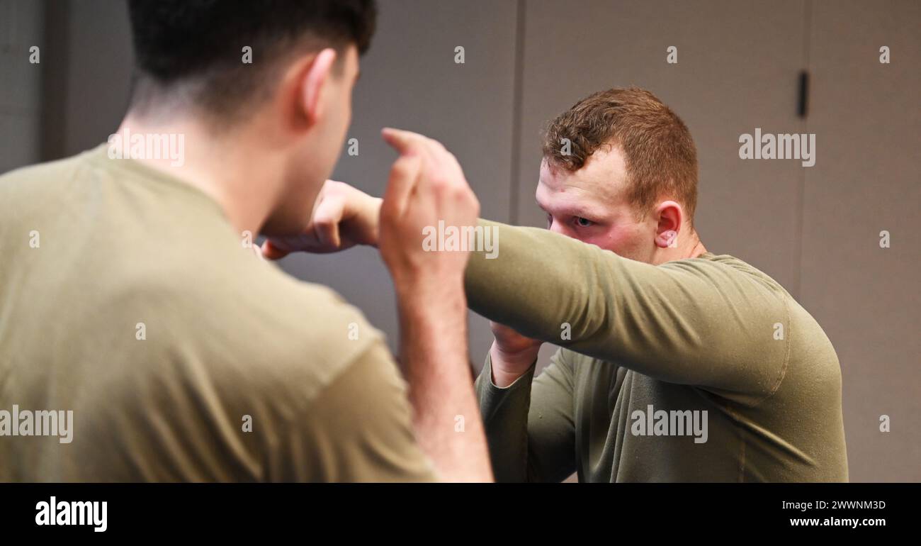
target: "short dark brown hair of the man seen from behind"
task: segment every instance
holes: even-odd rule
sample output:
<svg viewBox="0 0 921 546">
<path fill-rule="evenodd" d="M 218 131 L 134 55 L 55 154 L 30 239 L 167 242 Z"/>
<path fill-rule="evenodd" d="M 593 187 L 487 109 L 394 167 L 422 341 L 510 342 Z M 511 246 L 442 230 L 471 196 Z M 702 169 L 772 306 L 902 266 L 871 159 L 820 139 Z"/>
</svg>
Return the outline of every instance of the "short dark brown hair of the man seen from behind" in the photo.
<svg viewBox="0 0 921 546">
<path fill-rule="evenodd" d="M 129 0 L 128 15 L 133 107 L 167 101 L 177 83 L 194 80 L 195 105 L 230 119 L 274 88 L 277 68 L 291 54 L 344 51 L 349 44 L 367 51 L 377 6 L 374 0 Z M 241 62 L 244 46 L 251 47 L 252 64 Z"/>
</svg>

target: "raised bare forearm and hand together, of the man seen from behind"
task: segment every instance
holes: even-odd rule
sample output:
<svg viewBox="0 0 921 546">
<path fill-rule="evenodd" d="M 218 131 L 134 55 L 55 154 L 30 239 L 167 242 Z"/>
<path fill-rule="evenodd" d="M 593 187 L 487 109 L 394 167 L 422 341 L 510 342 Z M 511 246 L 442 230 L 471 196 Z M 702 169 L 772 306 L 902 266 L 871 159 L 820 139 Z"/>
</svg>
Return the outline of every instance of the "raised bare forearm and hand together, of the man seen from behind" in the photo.
<svg viewBox="0 0 921 546">
<path fill-rule="evenodd" d="M 475 225 L 480 204 L 448 150 L 421 135 L 385 129 L 400 152 L 380 207 L 380 254 L 400 310 L 400 352 L 415 435 L 445 481 L 492 481 L 483 419 L 467 358 L 468 252 L 426 251 L 439 221 Z M 465 430 L 452 426 L 466 416 Z"/>
</svg>

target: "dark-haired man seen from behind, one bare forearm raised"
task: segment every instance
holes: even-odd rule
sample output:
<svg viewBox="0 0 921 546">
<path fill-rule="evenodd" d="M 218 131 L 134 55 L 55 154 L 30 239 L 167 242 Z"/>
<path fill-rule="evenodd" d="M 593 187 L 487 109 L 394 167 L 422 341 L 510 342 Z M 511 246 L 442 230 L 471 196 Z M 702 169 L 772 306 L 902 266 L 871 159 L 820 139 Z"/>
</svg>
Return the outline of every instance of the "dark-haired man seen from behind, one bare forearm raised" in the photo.
<svg viewBox="0 0 921 546">
<path fill-rule="evenodd" d="M 426 225 L 475 221 L 456 161 L 433 178 L 401 157 L 383 203 L 363 202 L 408 393 L 356 308 L 253 252 L 260 232 L 322 233 L 315 203 L 357 193 L 324 182 L 372 2 L 129 6 L 137 79 L 118 132 L 0 177 L 0 481 L 490 480 L 468 255 L 421 244 Z"/>
</svg>

